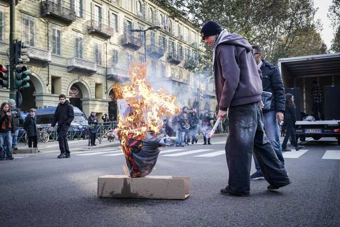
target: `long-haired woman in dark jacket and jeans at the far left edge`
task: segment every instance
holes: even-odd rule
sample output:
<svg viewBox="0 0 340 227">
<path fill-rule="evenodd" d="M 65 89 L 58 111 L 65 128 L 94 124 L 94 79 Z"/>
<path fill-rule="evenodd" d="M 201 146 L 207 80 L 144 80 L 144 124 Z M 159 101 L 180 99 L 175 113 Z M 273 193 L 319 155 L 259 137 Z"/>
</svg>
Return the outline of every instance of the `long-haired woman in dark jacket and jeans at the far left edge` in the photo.
<svg viewBox="0 0 340 227">
<path fill-rule="evenodd" d="M 15 133 L 14 121 L 8 103 L 0 107 L 0 160 L 12 160 L 12 134 Z M 6 147 L 6 149 L 5 149 Z"/>
</svg>

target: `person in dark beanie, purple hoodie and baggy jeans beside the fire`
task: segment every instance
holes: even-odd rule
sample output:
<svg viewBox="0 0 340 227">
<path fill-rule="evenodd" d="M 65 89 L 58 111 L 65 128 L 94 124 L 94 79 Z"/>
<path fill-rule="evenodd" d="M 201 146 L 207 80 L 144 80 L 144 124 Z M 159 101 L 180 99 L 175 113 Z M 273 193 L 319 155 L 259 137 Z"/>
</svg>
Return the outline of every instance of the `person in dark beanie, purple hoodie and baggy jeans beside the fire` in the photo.
<svg viewBox="0 0 340 227">
<path fill-rule="evenodd" d="M 252 45 L 241 35 L 222 31 L 221 26 L 211 20 L 204 24 L 201 35 L 213 51 L 213 74 L 220 108 L 217 117 L 228 115 L 229 118 L 225 144 L 229 180 L 221 193 L 250 195 L 253 152 L 270 184 L 268 190 L 290 184 L 287 171 L 264 132 L 260 108 L 261 71 L 256 66 Z"/>
</svg>

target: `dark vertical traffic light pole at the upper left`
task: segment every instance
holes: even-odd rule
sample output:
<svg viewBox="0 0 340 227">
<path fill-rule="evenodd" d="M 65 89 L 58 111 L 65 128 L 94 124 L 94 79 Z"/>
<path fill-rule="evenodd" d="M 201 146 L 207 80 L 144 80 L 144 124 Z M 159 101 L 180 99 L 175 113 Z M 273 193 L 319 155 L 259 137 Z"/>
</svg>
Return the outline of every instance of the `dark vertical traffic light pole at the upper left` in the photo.
<svg viewBox="0 0 340 227">
<path fill-rule="evenodd" d="M 16 0 L 10 0 L 10 32 L 9 32 L 9 83 L 10 83 L 10 90 L 9 90 L 9 98 L 17 100 L 17 89 L 16 89 L 16 64 L 15 64 L 15 32 L 16 32 Z"/>
</svg>

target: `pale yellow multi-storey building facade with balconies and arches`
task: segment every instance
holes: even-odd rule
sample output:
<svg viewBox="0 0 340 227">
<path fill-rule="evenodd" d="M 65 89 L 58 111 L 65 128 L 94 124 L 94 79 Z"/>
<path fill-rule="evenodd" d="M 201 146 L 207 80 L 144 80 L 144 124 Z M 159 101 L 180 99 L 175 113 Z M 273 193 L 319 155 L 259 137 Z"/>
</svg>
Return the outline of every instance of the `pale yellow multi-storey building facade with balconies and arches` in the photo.
<svg viewBox="0 0 340 227">
<path fill-rule="evenodd" d="M 87 116 L 94 109 L 117 119 L 112 88 L 118 77 L 128 77 L 131 64 L 144 61 L 144 42 L 148 80 L 176 95 L 179 105 L 193 105 L 199 30 L 184 17 L 170 17 L 171 10 L 156 0 L 19 1 L 15 39 L 30 47 L 23 65 L 32 72 L 30 88 L 20 91 L 21 108 L 55 106 L 64 93 Z M 1 64 L 9 62 L 9 21 L 9 0 L 0 0 Z M 152 26 L 160 28 L 145 37 L 131 32 Z M 1 101 L 8 97 L 9 89 L 0 88 Z"/>
</svg>

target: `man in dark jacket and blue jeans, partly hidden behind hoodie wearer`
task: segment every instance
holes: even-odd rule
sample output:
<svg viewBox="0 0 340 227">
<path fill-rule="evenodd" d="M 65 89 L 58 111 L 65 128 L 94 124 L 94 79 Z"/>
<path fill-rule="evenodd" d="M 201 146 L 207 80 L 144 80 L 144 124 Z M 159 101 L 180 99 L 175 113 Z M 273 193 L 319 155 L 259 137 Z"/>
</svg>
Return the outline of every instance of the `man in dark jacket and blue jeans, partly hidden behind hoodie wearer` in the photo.
<svg viewBox="0 0 340 227">
<path fill-rule="evenodd" d="M 282 156 L 277 123 L 278 121 L 283 121 L 286 105 L 285 88 L 283 87 L 282 77 L 280 70 L 276 66 L 262 59 L 262 52 L 259 46 L 254 45 L 253 52 L 257 68 L 259 68 L 262 73 L 262 88 L 264 91 L 272 93 L 272 104 L 268 107 L 265 106 L 265 108 L 262 109 L 264 130 L 268 140 L 272 143 L 272 147 L 274 148 L 277 157 L 282 164 L 285 164 L 285 160 Z M 256 172 L 250 176 L 250 179 L 264 179 L 255 157 L 254 161 Z"/>
</svg>

